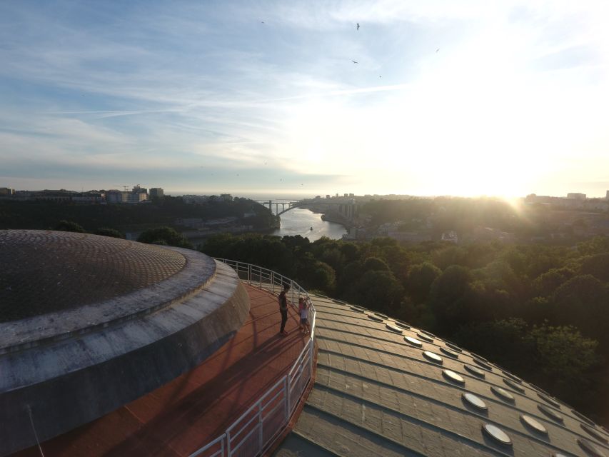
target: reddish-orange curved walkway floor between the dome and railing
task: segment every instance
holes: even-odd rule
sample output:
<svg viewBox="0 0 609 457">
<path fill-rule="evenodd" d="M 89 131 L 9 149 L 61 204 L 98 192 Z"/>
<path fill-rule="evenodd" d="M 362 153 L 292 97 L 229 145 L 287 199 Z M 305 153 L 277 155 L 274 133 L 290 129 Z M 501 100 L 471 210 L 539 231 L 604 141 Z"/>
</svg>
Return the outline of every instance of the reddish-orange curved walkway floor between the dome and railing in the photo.
<svg viewBox="0 0 609 457">
<path fill-rule="evenodd" d="M 277 298 L 246 285 L 251 310 L 236 336 L 201 365 L 84 426 L 41 443 L 48 456 L 188 456 L 220 436 L 286 375 L 306 338 L 289 307 L 280 336 Z M 104 395 L 104 392 L 99 392 Z M 37 446 L 14 456 L 40 456 Z"/>
</svg>

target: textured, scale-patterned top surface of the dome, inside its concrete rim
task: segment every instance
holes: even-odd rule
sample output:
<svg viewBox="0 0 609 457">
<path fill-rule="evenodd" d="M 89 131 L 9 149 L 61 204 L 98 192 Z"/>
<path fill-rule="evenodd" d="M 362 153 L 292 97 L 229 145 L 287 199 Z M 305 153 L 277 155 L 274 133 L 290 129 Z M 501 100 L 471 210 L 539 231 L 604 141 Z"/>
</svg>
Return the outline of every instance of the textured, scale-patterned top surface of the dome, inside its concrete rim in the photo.
<svg viewBox="0 0 609 457">
<path fill-rule="evenodd" d="M 88 233 L 1 230 L 0 265 L 0 322 L 7 322 L 151 286 L 181 271 L 186 258 Z"/>
</svg>

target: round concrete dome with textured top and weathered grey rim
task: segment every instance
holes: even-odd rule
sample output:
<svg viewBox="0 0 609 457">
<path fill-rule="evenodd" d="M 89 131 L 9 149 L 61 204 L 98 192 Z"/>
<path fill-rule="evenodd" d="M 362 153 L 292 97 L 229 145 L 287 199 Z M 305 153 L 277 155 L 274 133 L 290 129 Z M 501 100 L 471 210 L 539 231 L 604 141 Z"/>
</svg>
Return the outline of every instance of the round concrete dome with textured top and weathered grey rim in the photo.
<svg viewBox="0 0 609 457">
<path fill-rule="evenodd" d="M 0 261 L 0 456 L 171 381 L 249 312 L 236 273 L 189 249 L 10 230 Z"/>
</svg>

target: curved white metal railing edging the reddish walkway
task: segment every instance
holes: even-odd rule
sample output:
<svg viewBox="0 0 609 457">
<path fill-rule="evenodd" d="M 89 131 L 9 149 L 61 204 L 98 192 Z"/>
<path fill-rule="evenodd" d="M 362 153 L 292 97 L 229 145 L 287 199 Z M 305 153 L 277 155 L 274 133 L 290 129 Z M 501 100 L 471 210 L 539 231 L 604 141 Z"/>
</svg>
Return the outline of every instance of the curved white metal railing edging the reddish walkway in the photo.
<svg viewBox="0 0 609 457">
<path fill-rule="evenodd" d="M 301 296 L 308 299 L 306 290 L 276 271 L 251 263 L 226 260 L 226 258 L 216 258 L 216 260 L 231 266 L 241 281 L 271 291 L 273 295 L 289 284 L 291 296 L 288 303 L 291 306 L 296 307 Z M 288 425 L 298 401 L 311 380 L 315 314 L 315 307 L 311 304 L 308 313 L 311 333 L 286 376 L 257 398 L 253 405 L 226 429 L 225 433 L 192 453 L 190 457 L 256 457 L 271 446 Z"/>
</svg>

